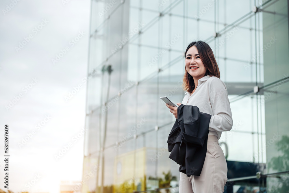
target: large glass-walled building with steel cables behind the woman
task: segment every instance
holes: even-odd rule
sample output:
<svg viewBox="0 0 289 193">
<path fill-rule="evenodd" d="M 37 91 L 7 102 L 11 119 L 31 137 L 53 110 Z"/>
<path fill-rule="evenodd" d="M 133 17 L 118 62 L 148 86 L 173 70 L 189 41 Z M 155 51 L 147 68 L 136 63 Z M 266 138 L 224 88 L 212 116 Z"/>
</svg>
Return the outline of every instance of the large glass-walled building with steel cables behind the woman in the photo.
<svg viewBox="0 0 289 193">
<path fill-rule="evenodd" d="M 288 192 L 288 36 L 286 0 L 92 0 L 82 192 L 178 192 L 160 96 L 181 103 L 195 40 L 213 49 L 231 103 L 225 192 Z"/>
</svg>

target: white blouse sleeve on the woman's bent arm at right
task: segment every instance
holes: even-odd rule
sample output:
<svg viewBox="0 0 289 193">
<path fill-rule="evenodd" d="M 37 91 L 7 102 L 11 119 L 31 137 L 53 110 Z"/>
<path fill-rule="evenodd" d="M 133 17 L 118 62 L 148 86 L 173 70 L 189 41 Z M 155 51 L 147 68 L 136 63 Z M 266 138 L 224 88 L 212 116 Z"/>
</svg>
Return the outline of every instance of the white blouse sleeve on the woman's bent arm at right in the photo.
<svg viewBox="0 0 289 193">
<path fill-rule="evenodd" d="M 225 83 L 214 78 L 209 83 L 209 98 L 213 110 L 209 130 L 229 131 L 233 126 L 232 112 Z"/>
</svg>

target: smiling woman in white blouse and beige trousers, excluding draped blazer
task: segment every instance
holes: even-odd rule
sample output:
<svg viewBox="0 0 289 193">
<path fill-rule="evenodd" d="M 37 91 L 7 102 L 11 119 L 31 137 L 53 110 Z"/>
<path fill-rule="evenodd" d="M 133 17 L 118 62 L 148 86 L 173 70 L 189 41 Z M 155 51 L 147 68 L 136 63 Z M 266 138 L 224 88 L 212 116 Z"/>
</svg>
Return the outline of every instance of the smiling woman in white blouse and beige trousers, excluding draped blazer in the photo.
<svg viewBox="0 0 289 193">
<path fill-rule="evenodd" d="M 183 87 L 186 95 L 177 105 L 193 105 L 200 112 L 212 115 L 209 124 L 208 147 L 200 176 L 187 177 L 180 172 L 180 193 L 223 193 L 227 182 L 227 163 L 218 143 L 222 131 L 232 128 L 233 120 L 226 85 L 210 46 L 191 42 L 185 52 Z M 177 118 L 177 107 L 166 104 Z"/>
</svg>

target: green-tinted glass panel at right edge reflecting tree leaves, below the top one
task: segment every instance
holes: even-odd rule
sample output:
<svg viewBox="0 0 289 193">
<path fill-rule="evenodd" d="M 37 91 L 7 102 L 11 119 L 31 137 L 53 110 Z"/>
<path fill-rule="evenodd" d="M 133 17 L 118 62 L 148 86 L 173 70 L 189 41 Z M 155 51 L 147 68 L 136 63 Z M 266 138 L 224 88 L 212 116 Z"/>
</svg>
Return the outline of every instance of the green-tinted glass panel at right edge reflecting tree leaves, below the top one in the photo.
<svg viewBox="0 0 289 193">
<path fill-rule="evenodd" d="M 267 169 L 270 173 L 289 169 L 286 161 L 288 148 L 285 145 L 289 141 L 288 96 L 288 81 L 281 81 L 279 84 L 275 84 L 274 87 L 264 91 Z"/>
</svg>

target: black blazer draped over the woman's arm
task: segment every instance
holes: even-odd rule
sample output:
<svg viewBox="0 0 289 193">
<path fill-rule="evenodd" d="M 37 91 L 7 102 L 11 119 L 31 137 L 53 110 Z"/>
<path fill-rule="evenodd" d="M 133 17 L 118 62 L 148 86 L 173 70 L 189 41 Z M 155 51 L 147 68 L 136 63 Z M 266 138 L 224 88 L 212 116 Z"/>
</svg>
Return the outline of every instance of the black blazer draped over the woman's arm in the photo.
<svg viewBox="0 0 289 193">
<path fill-rule="evenodd" d="M 168 136 L 169 158 L 180 165 L 188 177 L 199 176 L 204 165 L 211 115 L 197 106 L 178 106 L 178 118 Z"/>
</svg>

